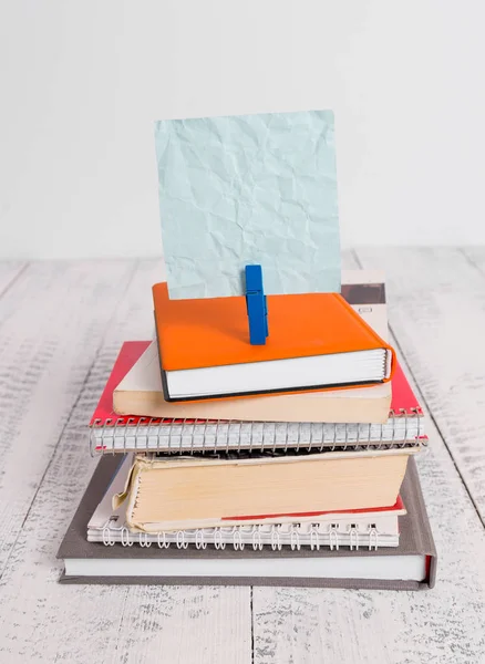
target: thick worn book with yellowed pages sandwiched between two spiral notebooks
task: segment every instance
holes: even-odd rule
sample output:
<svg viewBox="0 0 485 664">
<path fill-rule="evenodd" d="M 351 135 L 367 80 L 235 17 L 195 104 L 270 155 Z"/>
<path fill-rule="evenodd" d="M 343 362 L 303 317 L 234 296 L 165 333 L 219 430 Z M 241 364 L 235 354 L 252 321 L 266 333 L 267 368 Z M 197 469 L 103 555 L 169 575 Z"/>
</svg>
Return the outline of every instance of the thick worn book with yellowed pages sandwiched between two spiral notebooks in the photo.
<svg viewBox="0 0 485 664">
<path fill-rule="evenodd" d="M 318 511 L 394 505 L 409 454 L 370 452 L 245 459 L 135 457 L 125 490 L 126 523 L 144 532 L 213 528 Z"/>
</svg>

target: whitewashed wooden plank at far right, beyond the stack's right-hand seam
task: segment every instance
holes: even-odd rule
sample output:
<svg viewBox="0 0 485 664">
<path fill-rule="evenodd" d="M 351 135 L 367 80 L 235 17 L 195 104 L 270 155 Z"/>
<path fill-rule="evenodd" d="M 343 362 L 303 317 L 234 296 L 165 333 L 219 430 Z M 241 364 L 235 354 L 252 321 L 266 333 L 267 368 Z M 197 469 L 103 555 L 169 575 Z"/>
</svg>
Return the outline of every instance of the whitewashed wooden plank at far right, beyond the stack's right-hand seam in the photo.
<svg viewBox="0 0 485 664">
<path fill-rule="evenodd" d="M 485 273 L 471 256 L 359 250 L 388 274 L 391 328 L 485 523 Z"/>
</svg>

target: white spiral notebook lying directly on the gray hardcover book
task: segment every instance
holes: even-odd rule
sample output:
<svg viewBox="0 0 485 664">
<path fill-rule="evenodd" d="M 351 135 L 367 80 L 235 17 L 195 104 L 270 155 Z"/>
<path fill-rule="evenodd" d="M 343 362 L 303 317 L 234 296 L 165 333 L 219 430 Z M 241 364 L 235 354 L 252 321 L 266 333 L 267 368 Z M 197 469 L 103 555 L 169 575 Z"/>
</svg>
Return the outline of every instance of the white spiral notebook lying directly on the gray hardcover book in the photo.
<svg viewBox="0 0 485 664">
<path fill-rule="evenodd" d="M 216 549 L 233 547 L 242 550 L 245 547 L 262 549 L 271 547 L 281 550 L 283 546 L 291 549 L 310 547 L 330 547 L 350 549 L 379 547 L 398 547 L 399 525 L 398 516 L 405 513 L 402 499 L 399 497 L 395 505 L 372 510 L 358 509 L 348 512 L 321 512 L 309 516 L 299 516 L 298 519 L 272 519 L 268 517 L 265 522 L 248 525 L 245 519 L 240 526 L 220 528 L 197 528 L 178 531 L 159 531 L 156 533 L 133 532 L 126 521 L 124 507 L 113 509 L 112 497 L 124 490 L 133 455 L 126 455 L 103 496 L 94 515 L 87 523 L 87 541 L 103 542 L 104 546 L 121 544 L 131 547 L 177 547 L 186 549 L 194 544 L 197 549 L 213 546 Z"/>
</svg>

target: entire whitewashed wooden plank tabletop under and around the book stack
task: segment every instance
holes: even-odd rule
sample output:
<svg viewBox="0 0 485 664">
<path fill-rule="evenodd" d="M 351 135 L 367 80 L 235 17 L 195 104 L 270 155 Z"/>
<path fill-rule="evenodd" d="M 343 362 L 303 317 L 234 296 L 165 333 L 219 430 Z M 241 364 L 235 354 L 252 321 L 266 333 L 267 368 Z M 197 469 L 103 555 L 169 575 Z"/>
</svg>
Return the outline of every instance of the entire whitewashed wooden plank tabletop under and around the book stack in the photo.
<svg viewBox="0 0 485 664">
<path fill-rule="evenodd" d="M 0 262 L 0 662 L 485 662 L 485 248 L 359 250 L 429 413 L 429 592 L 60 585 L 94 469 L 86 423 L 153 331 L 156 260 Z"/>
</svg>

